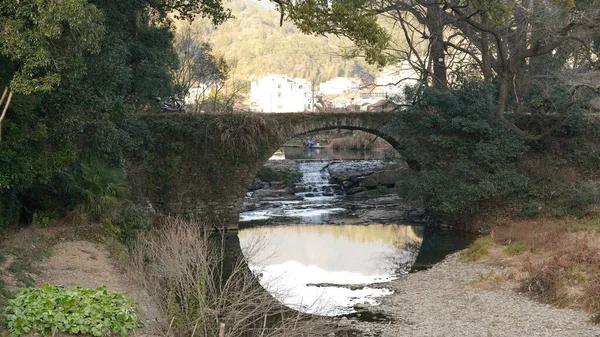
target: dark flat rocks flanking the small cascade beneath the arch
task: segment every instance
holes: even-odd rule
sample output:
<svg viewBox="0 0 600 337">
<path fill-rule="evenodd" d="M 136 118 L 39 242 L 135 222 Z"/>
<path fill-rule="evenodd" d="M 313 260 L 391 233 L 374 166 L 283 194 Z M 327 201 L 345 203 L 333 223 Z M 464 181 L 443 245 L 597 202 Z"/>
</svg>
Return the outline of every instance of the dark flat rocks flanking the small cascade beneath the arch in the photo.
<svg viewBox="0 0 600 337">
<path fill-rule="evenodd" d="M 385 165 L 381 160 L 328 162 L 321 170 L 327 171 L 331 185 L 313 194 L 300 183 L 299 163 L 294 160 L 269 161 L 263 168 L 264 173 L 250 186 L 242 212 L 270 210 L 277 214 L 290 202 L 306 197 L 343 196 L 331 204 L 343 207 L 346 210 L 344 216 L 327 223 L 418 221 L 423 215 L 420 210 L 406 206 L 398 196 L 395 184 L 403 170 L 399 165 Z M 281 177 L 292 179 L 275 180 Z"/>
</svg>

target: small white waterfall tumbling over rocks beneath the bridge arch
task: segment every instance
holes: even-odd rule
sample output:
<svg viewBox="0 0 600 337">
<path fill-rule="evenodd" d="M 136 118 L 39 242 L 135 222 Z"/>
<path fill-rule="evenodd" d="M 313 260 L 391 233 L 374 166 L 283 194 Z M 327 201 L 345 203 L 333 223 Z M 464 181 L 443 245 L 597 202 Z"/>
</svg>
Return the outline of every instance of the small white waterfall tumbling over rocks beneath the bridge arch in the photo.
<svg viewBox="0 0 600 337">
<path fill-rule="evenodd" d="M 298 166 L 302 182 L 296 184 L 296 195 L 303 198 L 332 198 L 341 195 L 339 185 L 329 183 L 328 161 L 307 161 Z"/>
</svg>

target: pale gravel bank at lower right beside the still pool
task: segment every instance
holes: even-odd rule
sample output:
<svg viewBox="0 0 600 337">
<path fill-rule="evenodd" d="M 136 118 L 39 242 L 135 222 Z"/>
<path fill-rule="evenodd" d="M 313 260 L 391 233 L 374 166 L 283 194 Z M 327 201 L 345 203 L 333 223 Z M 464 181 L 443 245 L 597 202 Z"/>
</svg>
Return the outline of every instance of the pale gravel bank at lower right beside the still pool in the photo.
<svg viewBox="0 0 600 337">
<path fill-rule="evenodd" d="M 433 268 L 393 282 L 396 293 L 380 307 L 395 322 L 356 323 L 364 336 L 565 336 L 600 337 L 600 325 L 582 311 L 557 309 L 508 287 L 469 285 L 491 267 L 463 263 L 453 254 Z M 501 270 L 496 270 L 501 273 Z"/>
</svg>

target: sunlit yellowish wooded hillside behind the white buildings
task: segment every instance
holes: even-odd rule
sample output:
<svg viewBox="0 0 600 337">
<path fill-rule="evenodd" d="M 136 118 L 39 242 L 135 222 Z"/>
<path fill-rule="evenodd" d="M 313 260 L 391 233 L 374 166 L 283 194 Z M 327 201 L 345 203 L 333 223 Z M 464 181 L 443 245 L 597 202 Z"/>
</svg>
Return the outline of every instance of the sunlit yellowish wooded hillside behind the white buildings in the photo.
<svg viewBox="0 0 600 337">
<path fill-rule="evenodd" d="M 369 82 L 377 68 L 362 59 L 343 55 L 346 38 L 301 33 L 291 22 L 280 26 L 280 14 L 248 0 L 226 4 L 235 18 L 215 27 L 200 19 L 192 30 L 232 66 L 235 80 L 246 81 L 269 73 L 311 80 L 314 84 L 337 76 L 360 77 Z M 177 23 L 179 31 L 189 23 Z"/>
</svg>

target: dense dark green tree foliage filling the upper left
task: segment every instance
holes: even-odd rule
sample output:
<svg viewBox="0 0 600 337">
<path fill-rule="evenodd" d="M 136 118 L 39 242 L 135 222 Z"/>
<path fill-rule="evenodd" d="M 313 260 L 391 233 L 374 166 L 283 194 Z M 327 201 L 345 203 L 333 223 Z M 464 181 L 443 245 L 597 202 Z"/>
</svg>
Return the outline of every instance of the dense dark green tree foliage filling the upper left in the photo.
<svg viewBox="0 0 600 337">
<path fill-rule="evenodd" d="M 140 115 L 174 89 L 170 10 L 215 23 L 230 16 L 208 0 L 0 1 L 0 83 L 23 93 L 3 121 L 1 226 L 91 206 L 91 194 L 78 193 L 84 180 L 74 188 L 66 177 L 80 176 L 90 157 L 123 171 L 127 154 L 146 151 Z"/>
</svg>

